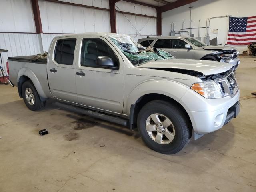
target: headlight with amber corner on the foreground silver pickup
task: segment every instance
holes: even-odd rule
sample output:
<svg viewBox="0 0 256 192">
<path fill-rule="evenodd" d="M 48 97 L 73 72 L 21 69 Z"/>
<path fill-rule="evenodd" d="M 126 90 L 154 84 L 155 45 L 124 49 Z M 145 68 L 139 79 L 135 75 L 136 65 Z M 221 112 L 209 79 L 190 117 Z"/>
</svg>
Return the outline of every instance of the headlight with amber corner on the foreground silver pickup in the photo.
<svg viewBox="0 0 256 192">
<path fill-rule="evenodd" d="M 191 89 L 198 94 L 204 96 L 206 99 L 221 98 L 222 94 L 220 88 L 215 81 L 204 82 L 204 83 L 194 83 Z"/>
</svg>

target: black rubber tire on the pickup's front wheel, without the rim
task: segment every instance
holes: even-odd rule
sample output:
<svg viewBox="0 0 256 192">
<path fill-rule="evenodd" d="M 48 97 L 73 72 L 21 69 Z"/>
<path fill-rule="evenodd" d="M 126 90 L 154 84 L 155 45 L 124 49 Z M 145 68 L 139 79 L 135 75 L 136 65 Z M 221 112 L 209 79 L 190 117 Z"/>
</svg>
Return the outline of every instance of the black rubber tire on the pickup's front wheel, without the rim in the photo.
<svg viewBox="0 0 256 192">
<path fill-rule="evenodd" d="M 172 122 L 175 135 L 170 143 L 159 144 L 149 136 L 146 130 L 146 121 L 151 114 L 163 114 Z M 190 140 L 191 124 L 184 112 L 176 104 L 161 100 L 148 102 L 140 110 L 137 124 L 145 144 L 152 150 L 163 154 L 175 154 L 179 152 Z"/>
</svg>

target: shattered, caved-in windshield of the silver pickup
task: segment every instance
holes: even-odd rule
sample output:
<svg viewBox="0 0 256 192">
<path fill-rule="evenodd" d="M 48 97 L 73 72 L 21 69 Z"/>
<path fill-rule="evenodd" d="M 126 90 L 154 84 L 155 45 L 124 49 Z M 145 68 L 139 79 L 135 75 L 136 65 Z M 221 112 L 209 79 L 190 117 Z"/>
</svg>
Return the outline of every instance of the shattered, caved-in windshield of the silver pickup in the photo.
<svg viewBox="0 0 256 192">
<path fill-rule="evenodd" d="M 173 59 L 174 57 L 160 49 L 153 50 L 136 43 L 130 36 L 126 35 L 108 35 L 123 54 L 130 60 L 133 65 L 142 64 L 152 60 Z"/>
</svg>

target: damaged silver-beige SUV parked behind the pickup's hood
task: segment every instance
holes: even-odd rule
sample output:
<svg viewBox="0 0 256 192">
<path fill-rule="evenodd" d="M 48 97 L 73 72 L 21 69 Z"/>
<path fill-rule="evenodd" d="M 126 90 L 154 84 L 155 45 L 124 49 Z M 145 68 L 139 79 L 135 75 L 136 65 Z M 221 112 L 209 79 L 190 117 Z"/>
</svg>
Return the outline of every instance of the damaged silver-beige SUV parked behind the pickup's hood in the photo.
<svg viewBox="0 0 256 192">
<path fill-rule="evenodd" d="M 183 36 L 150 37 L 139 39 L 144 47 L 162 49 L 178 59 L 200 59 L 228 63 L 237 70 L 240 64 L 239 52 L 229 46 L 207 46 L 198 39 Z"/>
</svg>

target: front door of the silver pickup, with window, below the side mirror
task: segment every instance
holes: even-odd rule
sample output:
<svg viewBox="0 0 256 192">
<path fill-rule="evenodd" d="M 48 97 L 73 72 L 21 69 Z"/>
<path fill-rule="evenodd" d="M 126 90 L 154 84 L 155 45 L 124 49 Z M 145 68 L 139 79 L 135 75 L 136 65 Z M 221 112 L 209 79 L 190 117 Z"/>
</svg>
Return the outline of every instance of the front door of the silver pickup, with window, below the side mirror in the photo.
<svg viewBox="0 0 256 192">
<path fill-rule="evenodd" d="M 124 102 L 124 61 L 115 48 L 101 37 L 81 39 L 76 63 L 78 102 L 85 106 L 122 113 Z M 97 57 L 108 56 L 117 69 L 98 66 Z"/>
</svg>

